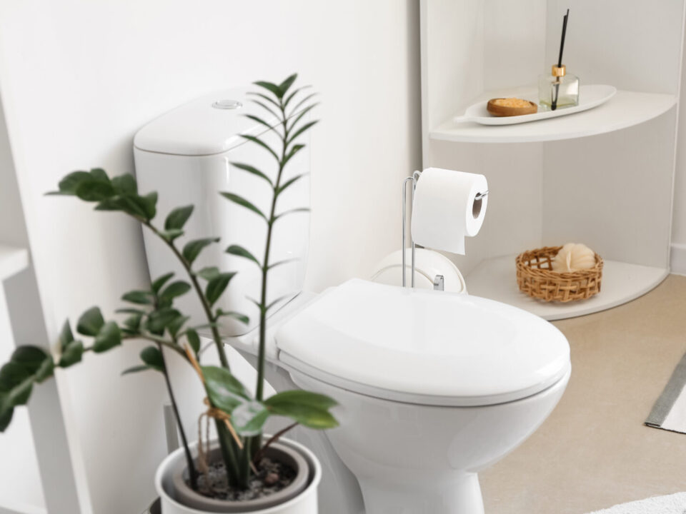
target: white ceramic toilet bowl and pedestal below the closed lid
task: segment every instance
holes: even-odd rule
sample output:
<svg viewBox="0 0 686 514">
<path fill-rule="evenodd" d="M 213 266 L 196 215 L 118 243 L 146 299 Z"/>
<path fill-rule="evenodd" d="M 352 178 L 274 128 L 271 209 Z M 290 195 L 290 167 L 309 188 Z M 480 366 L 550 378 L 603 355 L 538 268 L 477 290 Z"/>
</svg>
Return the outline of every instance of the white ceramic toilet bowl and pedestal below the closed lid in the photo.
<svg viewBox="0 0 686 514">
<path fill-rule="evenodd" d="M 467 408 L 382 400 L 291 375 L 299 387 L 339 402 L 341 425 L 326 434 L 357 477 L 366 514 L 483 514 L 477 473 L 534 433 L 570 372 L 528 398 Z"/>
</svg>

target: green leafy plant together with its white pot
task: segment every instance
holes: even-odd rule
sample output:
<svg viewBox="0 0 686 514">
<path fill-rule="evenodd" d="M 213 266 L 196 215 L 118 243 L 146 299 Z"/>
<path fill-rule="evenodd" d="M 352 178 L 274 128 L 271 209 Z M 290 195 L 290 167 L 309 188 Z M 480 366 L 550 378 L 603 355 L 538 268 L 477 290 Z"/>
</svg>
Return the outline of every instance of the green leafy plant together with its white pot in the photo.
<svg viewBox="0 0 686 514">
<path fill-rule="evenodd" d="M 314 107 L 312 96 L 305 88 L 292 86 L 297 76 L 289 76 L 280 84 L 259 81 L 260 90 L 253 93 L 254 102 L 261 106 L 269 121 L 248 115 L 253 121 L 279 134 L 279 148 L 272 148 L 259 137 L 242 136 L 274 156 L 275 171 L 267 173 L 249 163 L 233 163 L 236 168 L 252 173 L 272 187 L 272 206 L 262 212 L 248 198 L 225 192 L 222 196 L 249 209 L 264 219 L 266 245 L 260 260 L 242 246 L 231 244 L 227 253 L 254 262 L 262 273 L 259 308 L 259 354 L 257 384 L 252 395 L 232 375 L 219 323 L 225 316 L 247 323 L 247 317 L 237 312 L 216 308 L 215 303 L 229 287 L 235 273 L 216 266 L 198 269 L 194 266 L 199 254 L 219 238 L 205 237 L 187 241 L 183 246 L 184 224 L 192 216 L 194 206 L 179 206 L 167 214 L 164 225 L 156 224 L 157 194 L 142 194 L 131 174 L 110 178 L 99 168 L 74 171 L 59 182 L 55 193 L 76 196 L 95 203 L 96 211 L 119 211 L 139 221 L 164 241 L 169 251 L 182 264 L 187 276 L 175 278 L 167 273 L 151 282 L 145 290 L 129 291 L 121 299 L 129 306 L 117 313 L 126 317 L 121 321 L 106 321 L 98 307 L 84 312 L 76 323 L 76 333 L 89 338 L 86 344 L 74 336 L 69 321 L 59 336 L 56 356 L 38 346 L 20 346 L 11 359 L 0 368 L 0 431 L 11 422 L 14 408 L 25 405 L 34 385 L 49 378 L 55 368 L 69 368 L 79 363 L 84 353 L 102 353 L 125 341 L 145 341 L 148 346 L 140 353 L 141 365 L 126 373 L 156 371 L 166 383 L 169 399 L 177 419 L 182 448 L 169 455 L 156 473 L 156 488 L 161 496 L 164 514 L 185 513 L 316 513 L 317 483 L 321 470 L 314 455 L 293 441 L 282 438 L 296 425 L 317 430 L 337 425 L 330 413 L 335 405 L 331 398 L 304 390 L 289 390 L 264 398 L 264 359 L 267 314 L 274 303 L 267 303 L 269 270 L 279 263 L 269 260 L 274 223 L 287 213 L 276 213 L 279 195 L 297 181 L 295 176 L 282 181 L 284 169 L 291 158 L 304 148 L 297 138 L 314 126 L 306 114 Z M 272 123 L 272 119 L 276 119 Z M 303 209 L 297 209 L 303 210 Z M 180 296 L 193 292 L 199 298 L 206 319 L 202 325 L 190 325 L 174 305 Z M 195 322 L 195 321 L 194 321 Z M 219 355 L 219 366 L 204 366 L 201 362 L 199 330 L 209 331 Z M 192 366 L 202 381 L 207 397 L 207 415 L 216 427 L 217 439 L 189 443 L 184 432 L 174 389 L 167 373 L 165 352 L 177 353 Z M 265 437 L 262 428 L 267 418 L 285 416 L 292 424 L 281 432 Z"/>
</svg>

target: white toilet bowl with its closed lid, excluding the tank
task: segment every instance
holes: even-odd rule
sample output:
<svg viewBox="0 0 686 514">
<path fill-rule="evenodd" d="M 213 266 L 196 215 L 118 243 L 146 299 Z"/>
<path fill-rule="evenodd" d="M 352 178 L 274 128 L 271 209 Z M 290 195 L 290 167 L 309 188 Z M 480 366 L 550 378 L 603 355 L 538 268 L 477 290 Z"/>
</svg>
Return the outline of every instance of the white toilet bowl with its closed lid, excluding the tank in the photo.
<svg viewBox="0 0 686 514">
<path fill-rule="evenodd" d="M 327 513 L 483 513 L 477 473 L 540 426 L 570 378 L 557 328 L 485 298 L 354 279 L 302 303 L 272 326 L 267 381 L 339 403 L 339 428 L 309 433 L 311 447 L 325 437 L 335 452 L 314 443 L 337 468 Z M 364 510 L 346 505 L 357 490 L 341 487 L 336 456 Z"/>
</svg>

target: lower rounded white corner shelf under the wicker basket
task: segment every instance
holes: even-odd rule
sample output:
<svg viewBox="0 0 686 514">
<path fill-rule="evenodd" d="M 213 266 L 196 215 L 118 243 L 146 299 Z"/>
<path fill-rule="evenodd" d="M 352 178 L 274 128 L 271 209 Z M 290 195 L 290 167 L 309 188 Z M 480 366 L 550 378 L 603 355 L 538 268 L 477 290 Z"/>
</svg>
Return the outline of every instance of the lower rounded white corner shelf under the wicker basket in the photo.
<svg viewBox="0 0 686 514">
<path fill-rule="evenodd" d="M 616 307 L 644 295 L 662 282 L 669 270 L 618 261 L 605 261 L 600 293 L 587 300 L 547 303 L 535 300 L 517 288 L 515 256 L 487 259 L 467 275 L 467 290 L 529 311 L 549 321 L 585 316 Z"/>
</svg>

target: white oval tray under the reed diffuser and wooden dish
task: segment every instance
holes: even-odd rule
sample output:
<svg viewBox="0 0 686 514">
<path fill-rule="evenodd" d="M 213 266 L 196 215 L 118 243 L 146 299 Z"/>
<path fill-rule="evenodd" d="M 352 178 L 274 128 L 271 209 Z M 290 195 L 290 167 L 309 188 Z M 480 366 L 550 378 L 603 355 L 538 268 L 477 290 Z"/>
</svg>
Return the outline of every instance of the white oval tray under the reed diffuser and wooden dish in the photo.
<svg viewBox="0 0 686 514">
<path fill-rule="evenodd" d="M 604 84 L 582 85 L 579 89 L 579 105 L 566 107 L 565 109 L 555 109 L 555 111 L 541 111 L 535 114 L 524 114 L 522 116 L 492 116 L 486 109 L 488 100 L 484 100 L 467 107 L 467 111 L 464 111 L 463 116 L 455 116 L 454 122 L 464 123 L 465 121 L 474 121 L 482 125 L 514 125 L 527 123 L 528 121 L 557 118 L 558 116 L 567 116 L 567 114 L 587 111 L 588 109 L 593 109 L 601 104 L 605 104 L 612 96 L 615 96 L 615 93 L 617 93 L 617 88 L 615 86 L 606 86 Z M 517 96 L 517 98 L 522 98 L 538 104 L 538 91 L 537 89 L 527 90 L 525 94 Z"/>
</svg>

